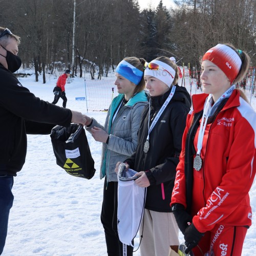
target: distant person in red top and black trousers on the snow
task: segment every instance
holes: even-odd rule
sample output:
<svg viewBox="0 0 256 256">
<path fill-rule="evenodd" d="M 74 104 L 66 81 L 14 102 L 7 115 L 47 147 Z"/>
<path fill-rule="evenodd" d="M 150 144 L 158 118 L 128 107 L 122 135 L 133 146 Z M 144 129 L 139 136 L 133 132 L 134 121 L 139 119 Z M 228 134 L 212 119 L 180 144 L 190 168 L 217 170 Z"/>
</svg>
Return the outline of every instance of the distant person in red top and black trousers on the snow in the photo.
<svg viewBox="0 0 256 256">
<path fill-rule="evenodd" d="M 52 104 L 56 104 L 59 98 L 61 98 L 63 100 L 62 106 L 63 108 L 66 108 L 68 99 L 66 97 L 65 84 L 66 84 L 67 78 L 70 77 L 70 74 L 71 74 L 71 71 L 67 69 L 64 74 L 59 76 L 56 86 L 53 89 L 53 93 L 55 96 Z"/>
</svg>

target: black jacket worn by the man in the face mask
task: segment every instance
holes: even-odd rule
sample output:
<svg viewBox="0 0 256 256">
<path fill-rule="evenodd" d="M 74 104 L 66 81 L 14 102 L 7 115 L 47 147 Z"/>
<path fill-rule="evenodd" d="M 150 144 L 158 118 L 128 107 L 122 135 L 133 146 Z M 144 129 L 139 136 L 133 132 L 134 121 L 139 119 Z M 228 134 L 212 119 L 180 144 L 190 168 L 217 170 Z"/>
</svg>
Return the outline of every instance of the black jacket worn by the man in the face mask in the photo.
<svg viewBox="0 0 256 256">
<path fill-rule="evenodd" d="M 72 112 L 35 97 L 0 64 L 0 175 L 22 169 L 26 134 L 49 134 L 55 124 L 69 126 Z"/>
</svg>

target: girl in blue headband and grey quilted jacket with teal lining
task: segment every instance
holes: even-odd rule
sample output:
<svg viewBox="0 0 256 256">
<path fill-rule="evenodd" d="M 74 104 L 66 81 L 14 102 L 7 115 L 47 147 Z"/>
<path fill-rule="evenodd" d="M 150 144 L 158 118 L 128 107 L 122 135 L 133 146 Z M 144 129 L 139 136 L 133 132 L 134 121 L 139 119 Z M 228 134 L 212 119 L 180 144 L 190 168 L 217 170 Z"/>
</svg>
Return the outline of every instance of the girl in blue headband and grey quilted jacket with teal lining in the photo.
<svg viewBox="0 0 256 256">
<path fill-rule="evenodd" d="M 105 231 L 108 255 L 133 254 L 133 247 L 119 241 L 117 232 L 117 174 L 116 163 L 132 155 L 138 144 L 141 113 L 148 104 L 144 92 L 144 59 L 129 57 L 116 68 L 117 91 L 110 105 L 105 124 L 87 118 L 87 131 L 96 141 L 102 142 L 100 178 L 105 177 L 101 223 Z"/>
</svg>

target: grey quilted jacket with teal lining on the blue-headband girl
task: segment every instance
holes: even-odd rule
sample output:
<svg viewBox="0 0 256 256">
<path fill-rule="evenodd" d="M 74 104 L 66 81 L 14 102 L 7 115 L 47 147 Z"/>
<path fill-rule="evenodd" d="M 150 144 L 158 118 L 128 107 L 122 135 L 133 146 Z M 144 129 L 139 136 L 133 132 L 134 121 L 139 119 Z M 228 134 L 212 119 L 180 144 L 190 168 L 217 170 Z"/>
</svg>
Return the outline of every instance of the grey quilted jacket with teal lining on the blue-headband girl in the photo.
<svg viewBox="0 0 256 256">
<path fill-rule="evenodd" d="M 148 104 L 146 93 L 144 91 L 137 93 L 119 110 L 112 123 L 113 114 L 123 97 L 123 94 L 119 94 L 113 99 L 104 126 L 92 118 L 92 124 L 86 127 L 88 132 L 96 126 L 110 135 L 109 143 L 102 143 L 100 166 L 100 179 L 106 176 L 107 182 L 117 181 L 116 163 L 123 162 L 135 152 L 138 145 L 141 114 L 145 105 Z M 112 125 L 110 125 L 111 123 Z"/>
</svg>

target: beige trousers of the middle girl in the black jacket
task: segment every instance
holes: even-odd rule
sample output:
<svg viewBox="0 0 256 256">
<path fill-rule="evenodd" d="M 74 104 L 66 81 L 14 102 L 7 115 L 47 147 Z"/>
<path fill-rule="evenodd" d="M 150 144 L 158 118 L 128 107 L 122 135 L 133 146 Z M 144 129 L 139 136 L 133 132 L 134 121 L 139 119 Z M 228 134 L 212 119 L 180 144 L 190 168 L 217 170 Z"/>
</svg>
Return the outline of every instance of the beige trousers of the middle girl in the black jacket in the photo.
<svg viewBox="0 0 256 256">
<path fill-rule="evenodd" d="M 141 235 L 141 256 L 168 256 L 170 245 L 179 245 L 179 228 L 172 212 L 145 209 Z"/>
</svg>

